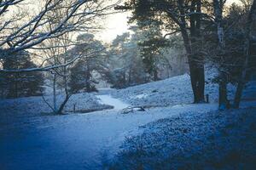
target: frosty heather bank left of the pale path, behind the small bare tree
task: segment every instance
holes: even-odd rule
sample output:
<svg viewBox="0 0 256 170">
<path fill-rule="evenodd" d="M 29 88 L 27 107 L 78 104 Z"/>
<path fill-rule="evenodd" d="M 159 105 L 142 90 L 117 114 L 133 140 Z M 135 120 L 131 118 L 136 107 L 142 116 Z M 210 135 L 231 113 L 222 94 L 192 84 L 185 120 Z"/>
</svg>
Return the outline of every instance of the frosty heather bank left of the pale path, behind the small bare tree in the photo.
<svg viewBox="0 0 256 170">
<path fill-rule="evenodd" d="M 44 97 L 49 104 L 53 105 L 53 96 L 47 95 Z M 57 105 L 61 105 L 63 100 L 62 95 L 57 96 Z M 102 110 L 109 109 L 109 105 L 99 103 L 99 99 L 93 94 L 73 94 L 68 100 L 64 108 L 65 112 L 73 112 L 75 110 L 84 112 L 87 110 Z M 20 99 L 0 99 L 0 116 L 1 122 L 8 121 L 5 119 L 26 118 L 27 116 L 42 116 L 51 114 L 52 110 L 44 102 L 42 97 L 28 97 Z M 18 119 L 18 121 L 19 121 Z"/>
</svg>

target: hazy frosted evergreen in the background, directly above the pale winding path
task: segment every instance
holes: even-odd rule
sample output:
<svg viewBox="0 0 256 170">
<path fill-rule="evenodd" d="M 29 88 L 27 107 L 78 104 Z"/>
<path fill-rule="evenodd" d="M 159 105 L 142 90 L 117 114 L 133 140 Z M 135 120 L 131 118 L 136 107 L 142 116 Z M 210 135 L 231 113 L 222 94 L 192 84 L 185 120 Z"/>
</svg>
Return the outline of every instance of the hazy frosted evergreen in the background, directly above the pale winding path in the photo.
<svg viewBox="0 0 256 170">
<path fill-rule="evenodd" d="M 106 79 L 113 88 L 125 88 L 149 81 L 148 74 L 139 53 L 138 42 L 143 39 L 137 26 L 134 33 L 124 33 L 113 40 L 109 51 L 109 71 Z"/>
</svg>

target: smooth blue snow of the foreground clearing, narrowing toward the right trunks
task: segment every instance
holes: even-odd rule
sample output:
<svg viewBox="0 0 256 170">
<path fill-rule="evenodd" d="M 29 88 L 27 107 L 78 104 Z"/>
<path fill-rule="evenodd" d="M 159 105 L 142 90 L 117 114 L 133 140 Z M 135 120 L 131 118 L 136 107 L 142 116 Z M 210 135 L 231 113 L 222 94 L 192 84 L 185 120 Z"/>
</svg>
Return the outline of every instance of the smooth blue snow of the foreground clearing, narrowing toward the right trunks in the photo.
<svg viewBox="0 0 256 170">
<path fill-rule="evenodd" d="M 125 138 L 139 133 L 148 122 L 188 110 L 216 109 L 217 105 L 183 105 L 127 115 L 109 110 L 2 125 L 0 164 L 7 169 L 101 169 L 102 161 L 111 159 Z"/>
</svg>

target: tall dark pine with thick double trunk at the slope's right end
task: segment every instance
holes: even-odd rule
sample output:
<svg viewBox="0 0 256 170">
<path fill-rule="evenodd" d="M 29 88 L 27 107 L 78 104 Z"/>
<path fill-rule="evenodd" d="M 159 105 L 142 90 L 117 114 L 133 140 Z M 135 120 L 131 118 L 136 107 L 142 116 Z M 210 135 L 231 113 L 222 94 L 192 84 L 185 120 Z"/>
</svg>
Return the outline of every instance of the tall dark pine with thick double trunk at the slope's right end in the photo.
<svg viewBox="0 0 256 170">
<path fill-rule="evenodd" d="M 180 32 L 183 45 L 188 57 L 190 80 L 194 94 L 194 102 L 205 101 L 205 68 L 204 57 L 201 54 L 201 22 L 204 19 L 202 11 L 208 10 L 209 3 L 201 0 L 193 1 L 127 1 L 125 6 L 116 9 L 132 9 L 132 21 L 147 21 L 148 26 L 152 21 L 159 20 L 161 26 L 169 35 Z"/>
</svg>

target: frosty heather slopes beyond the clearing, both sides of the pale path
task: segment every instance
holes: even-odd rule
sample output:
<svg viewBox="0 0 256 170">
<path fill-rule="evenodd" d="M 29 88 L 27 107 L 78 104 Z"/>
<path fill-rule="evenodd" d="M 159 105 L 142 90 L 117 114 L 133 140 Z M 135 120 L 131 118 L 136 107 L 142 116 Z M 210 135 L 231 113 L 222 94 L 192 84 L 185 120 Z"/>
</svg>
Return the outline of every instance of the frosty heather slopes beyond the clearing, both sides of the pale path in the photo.
<svg viewBox="0 0 256 170">
<path fill-rule="evenodd" d="M 256 99 L 255 87 L 255 82 L 250 82 L 244 90 L 243 99 Z M 235 88 L 229 85 L 229 89 L 230 99 L 233 99 Z M 209 94 L 210 103 L 217 103 L 218 84 L 208 81 L 205 94 Z M 107 97 L 105 99 L 107 102 L 104 104 L 97 97 L 101 95 Z M 73 94 L 71 99 L 68 100 L 64 111 L 73 112 L 74 105 L 76 112 L 111 109 L 111 103 L 110 105 L 108 104 L 108 95 L 112 95 L 113 98 L 121 99 L 127 104 L 134 106 L 166 106 L 190 104 L 193 102 L 190 78 L 188 74 L 184 74 L 158 82 L 148 82 L 131 88 L 119 90 L 105 88 L 101 89 L 99 93 Z M 51 95 L 47 95 L 45 99 L 52 105 L 53 97 Z M 58 105 L 60 105 L 61 100 L 63 100 L 63 96 L 59 95 L 57 98 Z M 118 101 L 114 102 L 118 103 Z M 40 115 L 42 113 L 52 112 L 42 97 L 0 99 L 0 109 L 2 114 L 21 116 L 23 114 Z"/>
</svg>

